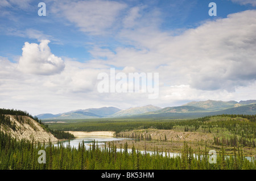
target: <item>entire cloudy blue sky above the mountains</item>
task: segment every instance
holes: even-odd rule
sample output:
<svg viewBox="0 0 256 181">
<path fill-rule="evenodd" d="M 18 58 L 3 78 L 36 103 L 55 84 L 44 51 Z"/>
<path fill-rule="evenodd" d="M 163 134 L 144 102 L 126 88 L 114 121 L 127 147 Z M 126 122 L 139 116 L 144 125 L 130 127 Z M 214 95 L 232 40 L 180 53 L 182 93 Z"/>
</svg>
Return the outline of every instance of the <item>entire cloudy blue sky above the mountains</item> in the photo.
<svg viewBox="0 0 256 181">
<path fill-rule="evenodd" d="M 111 68 L 158 73 L 157 98 L 99 92 L 98 75 Z M 0 1 L 0 108 L 38 115 L 239 102 L 255 99 L 255 70 L 256 0 Z"/>
</svg>

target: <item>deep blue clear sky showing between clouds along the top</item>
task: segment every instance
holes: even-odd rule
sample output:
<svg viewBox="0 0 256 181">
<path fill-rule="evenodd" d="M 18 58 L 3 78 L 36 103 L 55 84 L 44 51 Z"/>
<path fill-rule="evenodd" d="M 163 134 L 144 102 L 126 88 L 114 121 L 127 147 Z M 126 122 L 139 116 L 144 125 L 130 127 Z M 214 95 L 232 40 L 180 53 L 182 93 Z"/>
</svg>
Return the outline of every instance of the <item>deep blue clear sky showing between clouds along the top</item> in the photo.
<svg viewBox="0 0 256 181">
<path fill-rule="evenodd" d="M 8 1 L 7 1 L 8 2 Z M 78 27 L 74 27 L 72 23 L 67 22 L 63 16 L 58 16 L 51 12 L 51 1 L 46 1 L 47 16 L 38 16 L 39 2 L 43 1 L 26 1 L 30 7 L 21 8 L 15 3 L 10 2 L 10 7 L 5 7 L 5 11 L 10 15 L 3 16 L 1 20 L 1 56 L 20 56 L 22 50 L 20 47 L 24 45 L 25 41 L 30 43 L 38 43 L 35 37 L 25 36 L 22 31 L 35 30 L 50 36 L 52 44 L 51 49 L 57 56 L 67 56 L 76 58 L 77 61 L 90 60 L 92 56 L 89 50 L 94 45 L 100 45 L 108 47 L 114 50 L 118 46 L 126 47 L 132 46 L 130 44 L 123 44 L 115 37 L 115 33 L 120 31 L 111 28 L 112 33 L 108 35 L 88 35 L 81 32 Z M 30 2 L 30 3 L 29 3 Z M 233 3 L 232 1 L 218 0 L 217 3 L 217 16 L 209 16 L 209 3 L 212 1 L 117 1 L 125 3 L 127 7 L 120 12 L 119 17 L 123 18 L 127 15 L 130 8 L 136 6 L 144 6 L 142 15 L 148 16 L 148 22 L 150 23 L 150 15 L 147 13 L 150 11 L 160 11 L 158 28 L 163 32 L 177 32 L 187 30 L 188 28 L 196 28 L 200 26 L 202 22 L 209 19 L 226 18 L 228 14 L 234 12 L 245 11 L 249 9 L 255 9 L 255 7 L 248 5 L 241 6 L 239 3 Z M 61 6 L 61 3 L 60 5 Z M 117 26 L 120 24 L 117 20 Z M 115 24 L 114 24 L 115 25 Z M 12 32 L 6 32 L 11 30 Z M 24 37 L 22 37 L 24 36 Z M 5 42 L 5 43 L 3 43 Z M 12 61 L 12 58 L 10 57 Z"/>
</svg>

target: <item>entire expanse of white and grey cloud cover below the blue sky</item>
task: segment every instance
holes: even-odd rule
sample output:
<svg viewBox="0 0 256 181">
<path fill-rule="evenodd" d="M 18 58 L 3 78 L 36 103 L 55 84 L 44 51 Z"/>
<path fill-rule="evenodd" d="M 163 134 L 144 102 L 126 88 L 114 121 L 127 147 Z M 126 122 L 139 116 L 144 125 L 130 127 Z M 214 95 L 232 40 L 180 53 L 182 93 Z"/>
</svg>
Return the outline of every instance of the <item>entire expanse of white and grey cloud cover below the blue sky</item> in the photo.
<svg viewBox="0 0 256 181">
<path fill-rule="evenodd" d="M 44 31 L 11 31 L 16 36 L 47 40 L 40 41 L 40 44 L 26 42 L 17 63 L 0 57 L 2 107 L 36 114 L 71 111 L 71 107 L 72 110 L 103 106 L 129 108 L 146 104 L 166 107 L 179 106 L 185 103 L 184 100 L 254 99 L 255 10 L 208 20 L 196 28 L 175 33 L 160 28 L 163 19 L 154 8 L 127 7 L 114 1 L 101 3 L 105 7 L 97 6 L 100 1 L 67 2 L 56 3 L 59 5 L 55 6 L 55 11 L 60 17 L 64 16 L 86 34 L 104 35 L 104 40 L 112 41 L 113 38 L 117 44 L 94 41 L 97 36 L 84 37 L 80 33 L 81 41 L 93 42 L 88 50 L 93 58 L 79 62 L 72 57 L 54 56 L 48 47 L 48 40 L 53 39 L 44 35 Z M 108 17 L 107 22 L 104 16 Z M 114 28 L 119 29 L 114 31 Z M 106 31 L 111 37 L 105 36 Z M 89 43 L 85 44 L 88 48 Z M 61 48 L 67 47 L 63 45 Z M 159 98 L 148 99 L 147 93 L 100 94 L 97 74 L 109 73 L 110 67 L 126 74 L 159 73 Z"/>
</svg>

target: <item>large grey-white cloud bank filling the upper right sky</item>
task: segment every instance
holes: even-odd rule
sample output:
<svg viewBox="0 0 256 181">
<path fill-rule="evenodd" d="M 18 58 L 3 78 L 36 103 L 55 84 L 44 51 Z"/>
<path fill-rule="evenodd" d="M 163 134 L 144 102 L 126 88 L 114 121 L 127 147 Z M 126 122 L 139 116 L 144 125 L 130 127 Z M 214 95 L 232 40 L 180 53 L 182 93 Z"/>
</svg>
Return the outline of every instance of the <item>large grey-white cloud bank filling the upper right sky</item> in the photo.
<svg viewBox="0 0 256 181">
<path fill-rule="evenodd" d="M 234 91 L 256 78 L 255 24 L 256 11 L 248 10 L 178 36 L 156 28 L 126 29 L 119 36 L 133 40 L 133 47 L 117 48 L 109 64 L 159 72 L 160 81 L 171 85 Z"/>
</svg>

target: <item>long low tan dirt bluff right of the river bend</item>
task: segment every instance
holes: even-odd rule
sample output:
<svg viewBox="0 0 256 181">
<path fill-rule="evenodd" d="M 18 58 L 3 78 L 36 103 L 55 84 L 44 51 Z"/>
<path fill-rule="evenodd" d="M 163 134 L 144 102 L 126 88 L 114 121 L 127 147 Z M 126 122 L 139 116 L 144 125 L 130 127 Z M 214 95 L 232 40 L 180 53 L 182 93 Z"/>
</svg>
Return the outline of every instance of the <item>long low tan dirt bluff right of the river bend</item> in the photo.
<svg viewBox="0 0 256 181">
<path fill-rule="evenodd" d="M 213 141 L 213 135 L 210 133 L 199 132 L 178 132 L 173 130 L 160 129 L 140 129 L 129 132 L 120 132 L 117 134 L 120 137 L 142 138 L 144 140 L 158 140 L 158 141 Z"/>
</svg>

